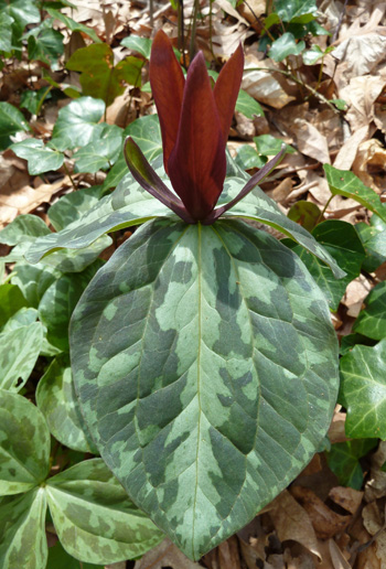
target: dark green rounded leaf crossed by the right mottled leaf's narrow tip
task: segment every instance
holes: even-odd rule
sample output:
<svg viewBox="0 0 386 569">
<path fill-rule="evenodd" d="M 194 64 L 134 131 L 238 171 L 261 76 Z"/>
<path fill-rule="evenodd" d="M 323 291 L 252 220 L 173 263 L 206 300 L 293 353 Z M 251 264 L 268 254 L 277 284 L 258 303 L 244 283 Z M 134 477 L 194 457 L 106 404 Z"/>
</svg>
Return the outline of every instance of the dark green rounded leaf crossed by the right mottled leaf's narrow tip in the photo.
<svg viewBox="0 0 386 569">
<path fill-rule="evenodd" d="M 365 250 L 355 228 L 346 222 L 328 219 L 317 225 L 312 235 L 345 271 L 343 279 L 336 280 L 329 267 L 299 246 L 293 247 L 287 240 L 286 245 L 299 255 L 324 292 L 331 310 L 336 311 L 347 284 L 360 276 Z"/>
</svg>

